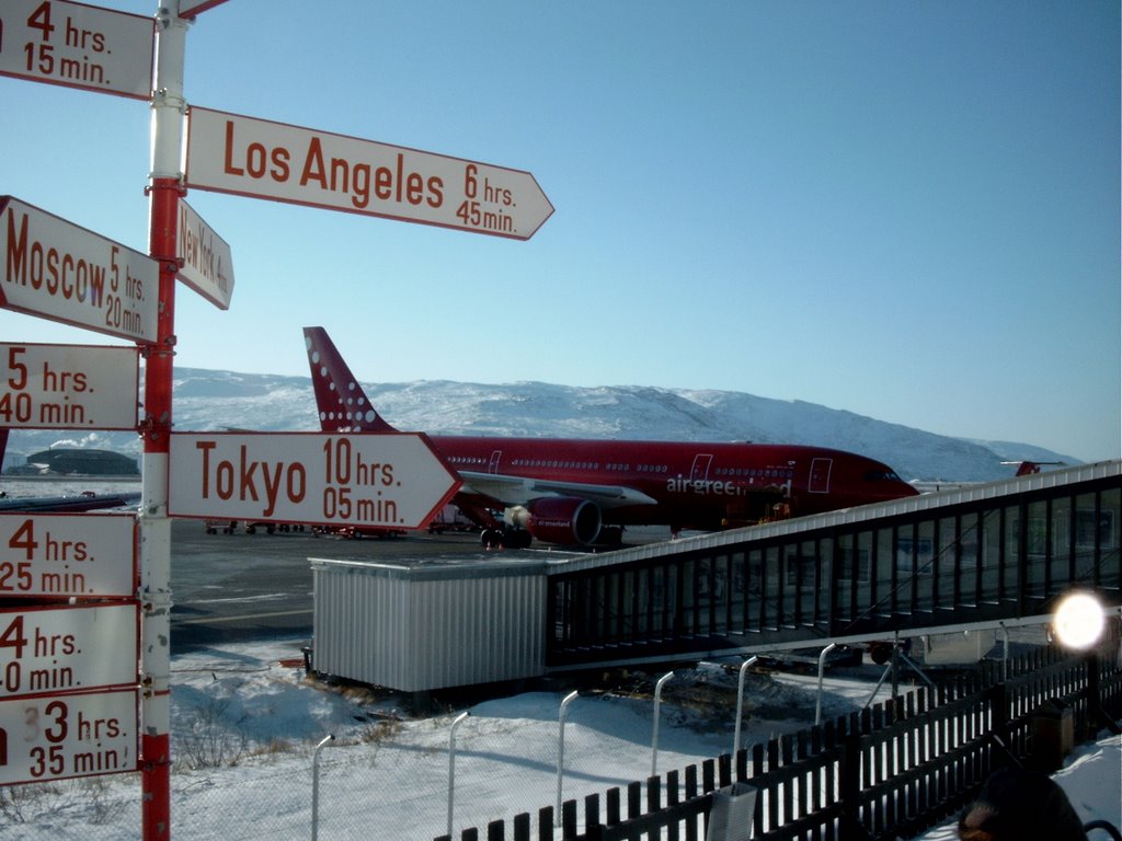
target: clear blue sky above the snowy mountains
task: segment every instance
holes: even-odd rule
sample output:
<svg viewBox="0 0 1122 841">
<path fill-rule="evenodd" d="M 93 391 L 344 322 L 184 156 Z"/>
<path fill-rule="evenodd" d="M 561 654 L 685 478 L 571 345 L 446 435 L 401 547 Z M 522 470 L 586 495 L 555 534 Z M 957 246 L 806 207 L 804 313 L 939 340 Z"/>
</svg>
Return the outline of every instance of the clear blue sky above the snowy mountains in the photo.
<svg viewBox="0 0 1122 841">
<path fill-rule="evenodd" d="M 1119 458 L 1120 76 L 1106 1 L 229 0 L 188 102 L 525 169 L 555 212 L 521 242 L 192 191 L 236 288 L 180 287 L 176 363 L 305 375 L 318 324 L 367 381 L 727 389 Z M 145 103 L 0 102 L 0 193 L 145 249 Z"/>
</svg>

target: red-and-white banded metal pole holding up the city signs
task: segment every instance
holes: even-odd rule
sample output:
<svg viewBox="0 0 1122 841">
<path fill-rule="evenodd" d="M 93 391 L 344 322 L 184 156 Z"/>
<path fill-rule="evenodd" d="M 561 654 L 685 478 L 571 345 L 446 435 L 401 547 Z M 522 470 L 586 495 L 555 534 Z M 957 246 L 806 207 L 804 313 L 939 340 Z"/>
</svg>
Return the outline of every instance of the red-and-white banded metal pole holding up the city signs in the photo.
<svg viewBox="0 0 1122 841">
<path fill-rule="evenodd" d="M 176 223 L 182 160 L 183 64 L 187 21 L 177 2 L 156 12 L 157 59 L 151 111 L 149 253 L 159 262 L 156 343 L 145 370 L 142 507 L 140 510 L 141 831 L 144 841 L 171 838 L 171 577 L 167 461 L 172 432 L 172 358 L 175 346 Z"/>
</svg>

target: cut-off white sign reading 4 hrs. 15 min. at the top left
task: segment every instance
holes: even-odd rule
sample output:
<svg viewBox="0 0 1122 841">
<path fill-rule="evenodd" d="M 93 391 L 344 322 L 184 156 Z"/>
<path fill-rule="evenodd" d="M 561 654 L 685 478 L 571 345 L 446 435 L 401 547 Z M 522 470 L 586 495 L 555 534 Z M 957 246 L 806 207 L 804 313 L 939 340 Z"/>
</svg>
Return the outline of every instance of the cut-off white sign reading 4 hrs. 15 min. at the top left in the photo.
<svg viewBox="0 0 1122 841">
<path fill-rule="evenodd" d="M 147 100 L 156 21 L 64 0 L 4 0 L 0 74 Z"/>
</svg>

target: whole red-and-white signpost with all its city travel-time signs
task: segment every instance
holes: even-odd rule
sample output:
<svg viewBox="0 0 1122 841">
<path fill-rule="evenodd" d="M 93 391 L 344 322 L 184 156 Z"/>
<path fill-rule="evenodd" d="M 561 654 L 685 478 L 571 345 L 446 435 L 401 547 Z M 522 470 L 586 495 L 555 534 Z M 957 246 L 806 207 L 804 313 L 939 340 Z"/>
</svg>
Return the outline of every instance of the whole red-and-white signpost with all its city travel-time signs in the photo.
<svg viewBox="0 0 1122 841">
<path fill-rule="evenodd" d="M 184 186 L 518 240 L 553 213 L 526 172 L 202 108 L 182 173 L 186 18 L 222 2 L 172 0 L 156 20 L 67 0 L 0 7 L 0 75 L 153 112 L 150 257 L 0 196 L 0 307 L 135 341 L 147 359 L 139 524 L 0 518 L 0 599 L 140 600 L 0 610 L 0 785 L 139 770 L 146 841 L 171 834 L 169 516 L 420 528 L 460 484 L 423 435 L 172 434 L 176 278 L 223 309 L 233 288 L 229 247 Z M 0 434 L 132 428 L 136 354 L 119 350 L 0 345 Z"/>
</svg>

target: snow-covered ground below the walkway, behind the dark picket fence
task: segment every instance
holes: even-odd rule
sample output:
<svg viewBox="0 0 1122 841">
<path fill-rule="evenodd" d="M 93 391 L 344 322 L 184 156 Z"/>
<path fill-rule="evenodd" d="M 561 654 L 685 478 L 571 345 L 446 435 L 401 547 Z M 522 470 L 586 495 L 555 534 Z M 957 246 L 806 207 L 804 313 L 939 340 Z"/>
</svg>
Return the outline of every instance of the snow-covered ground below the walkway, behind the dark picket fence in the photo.
<svg viewBox="0 0 1122 841">
<path fill-rule="evenodd" d="M 172 835 L 222 839 L 309 838 L 314 746 L 320 755 L 319 838 L 419 839 L 448 829 L 450 734 L 462 708 L 406 715 L 392 693 L 325 687 L 305 680 L 303 640 L 228 645 L 176 657 Z M 705 703 L 735 675 L 718 667 L 671 680 L 660 715 L 657 770 L 728 752 L 733 722 Z M 644 779 L 652 766 L 650 683 L 624 678 L 613 692 L 582 693 L 564 731 L 565 800 Z M 867 681 L 829 677 L 824 715 L 865 703 Z M 558 713 L 565 691 L 530 692 L 467 708 L 456 730 L 453 828 L 485 829 L 518 812 L 536 815 L 557 800 Z M 804 728 L 817 695 L 812 676 L 752 675 L 751 720 L 742 743 Z M 1057 774 L 1084 820 L 1122 824 L 1122 740 L 1080 746 Z M 536 820 L 536 817 L 535 817 Z M 4 839 L 139 838 L 140 787 L 135 774 L 20 787 L 0 793 Z M 946 824 L 928 841 L 955 838 Z"/>
</svg>

